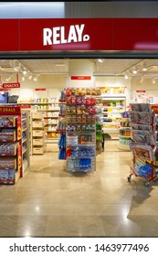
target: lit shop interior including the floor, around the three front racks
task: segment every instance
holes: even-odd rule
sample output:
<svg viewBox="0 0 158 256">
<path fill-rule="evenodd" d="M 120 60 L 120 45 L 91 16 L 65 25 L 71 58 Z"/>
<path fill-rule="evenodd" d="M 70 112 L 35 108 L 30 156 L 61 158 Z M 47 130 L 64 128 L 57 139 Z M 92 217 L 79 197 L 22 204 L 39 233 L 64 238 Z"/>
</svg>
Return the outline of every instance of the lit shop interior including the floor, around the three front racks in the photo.
<svg viewBox="0 0 158 256">
<path fill-rule="evenodd" d="M 158 104 L 157 71 L 157 59 L 0 60 L 1 107 L 21 106 L 27 118 L 24 174 L 0 185 L 1 237 L 158 235 L 158 183 L 129 182 L 132 133 L 121 114 L 133 102 Z M 68 88 L 100 89 L 94 96 L 103 138 L 90 172 L 68 170 L 59 158 L 58 105 Z"/>
</svg>

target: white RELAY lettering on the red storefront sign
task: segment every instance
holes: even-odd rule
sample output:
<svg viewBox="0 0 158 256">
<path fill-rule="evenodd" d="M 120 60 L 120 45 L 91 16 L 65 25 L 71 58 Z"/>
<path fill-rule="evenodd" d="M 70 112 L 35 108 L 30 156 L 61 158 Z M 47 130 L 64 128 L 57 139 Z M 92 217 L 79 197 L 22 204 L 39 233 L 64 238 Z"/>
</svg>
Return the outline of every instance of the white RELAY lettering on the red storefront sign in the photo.
<svg viewBox="0 0 158 256">
<path fill-rule="evenodd" d="M 71 25 L 66 37 L 65 27 L 53 27 L 52 29 L 46 27 L 43 29 L 43 45 L 59 45 L 85 42 L 90 40 L 89 35 L 83 35 L 85 24 Z"/>
</svg>

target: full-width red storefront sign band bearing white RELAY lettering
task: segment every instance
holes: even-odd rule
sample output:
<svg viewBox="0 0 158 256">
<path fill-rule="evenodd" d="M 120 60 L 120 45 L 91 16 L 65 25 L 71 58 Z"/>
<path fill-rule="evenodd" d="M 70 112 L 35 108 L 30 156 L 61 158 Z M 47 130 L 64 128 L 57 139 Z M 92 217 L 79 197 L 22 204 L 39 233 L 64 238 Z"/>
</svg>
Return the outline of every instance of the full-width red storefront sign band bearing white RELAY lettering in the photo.
<svg viewBox="0 0 158 256">
<path fill-rule="evenodd" d="M 0 27 L 0 51 L 158 50 L 158 18 L 0 19 Z"/>
</svg>

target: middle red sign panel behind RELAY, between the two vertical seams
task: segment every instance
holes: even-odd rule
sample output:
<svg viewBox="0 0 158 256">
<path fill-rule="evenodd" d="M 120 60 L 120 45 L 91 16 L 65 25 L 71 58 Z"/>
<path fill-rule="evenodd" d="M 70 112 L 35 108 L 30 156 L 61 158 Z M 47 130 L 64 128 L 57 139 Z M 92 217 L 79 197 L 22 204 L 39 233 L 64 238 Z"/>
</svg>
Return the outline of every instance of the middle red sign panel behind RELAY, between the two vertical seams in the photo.
<svg viewBox="0 0 158 256">
<path fill-rule="evenodd" d="M 111 25 L 111 19 L 102 18 L 21 19 L 20 49 L 111 49 Z"/>
</svg>

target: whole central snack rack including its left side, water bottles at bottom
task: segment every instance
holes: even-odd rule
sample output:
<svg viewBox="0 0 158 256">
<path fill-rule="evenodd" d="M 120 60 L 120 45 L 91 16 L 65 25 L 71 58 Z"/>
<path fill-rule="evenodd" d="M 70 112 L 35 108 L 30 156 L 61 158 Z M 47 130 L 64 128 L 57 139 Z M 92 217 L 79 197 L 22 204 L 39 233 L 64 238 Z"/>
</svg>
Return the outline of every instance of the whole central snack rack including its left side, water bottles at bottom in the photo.
<svg viewBox="0 0 158 256">
<path fill-rule="evenodd" d="M 97 93 L 95 89 L 79 88 L 67 88 L 61 92 L 57 127 L 60 133 L 58 158 L 67 160 L 69 172 L 96 170 Z M 65 139 L 62 137 L 64 134 Z M 65 153 L 60 157 L 62 150 Z"/>
</svg>

